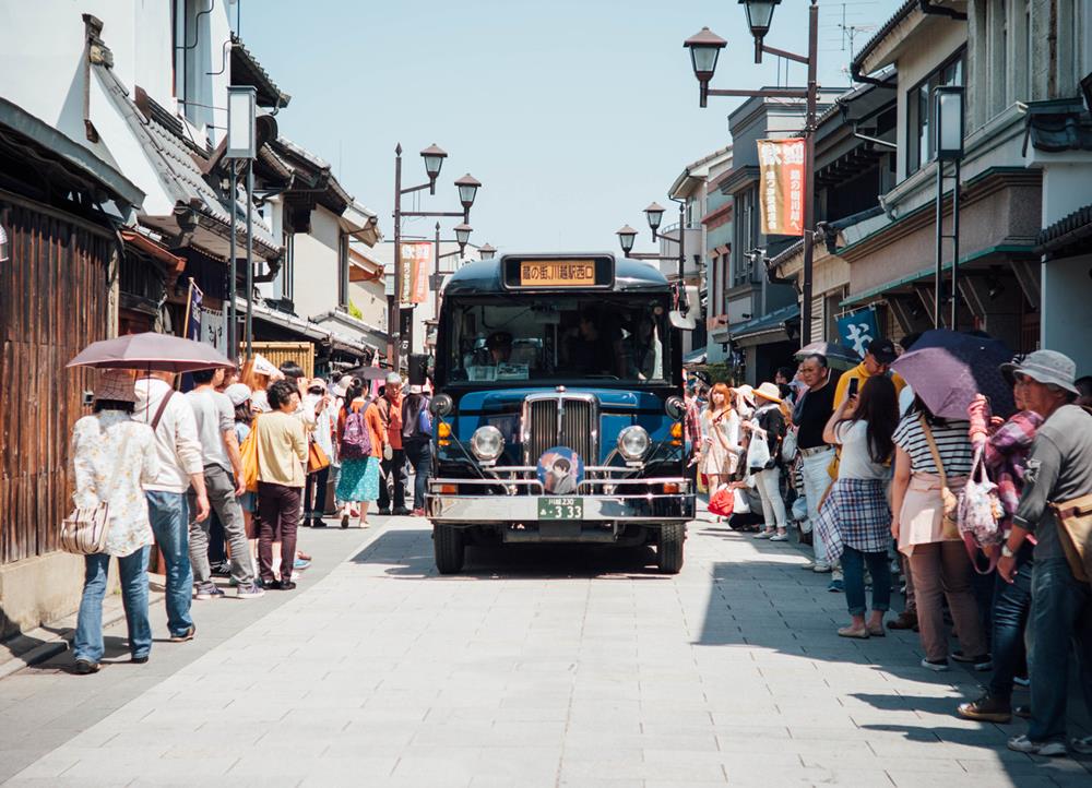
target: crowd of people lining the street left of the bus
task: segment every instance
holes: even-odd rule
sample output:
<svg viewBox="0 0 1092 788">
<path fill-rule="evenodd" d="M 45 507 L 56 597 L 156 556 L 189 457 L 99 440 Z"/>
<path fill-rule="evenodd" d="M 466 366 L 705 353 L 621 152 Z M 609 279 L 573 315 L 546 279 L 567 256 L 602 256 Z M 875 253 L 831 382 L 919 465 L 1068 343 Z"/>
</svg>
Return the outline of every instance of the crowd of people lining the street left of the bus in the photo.
<svg viewBox="0 0 1092 788">
<path fill-rule="evenodd" d="M 121 575 L 130 660 L 143 664 L 152 648 L 153 546 L 169 640 L 182 643 L 197 633 L 192 601 L 226 595 L 216 575 L 229 576 L 239 599 L 296 588 L 311 560 L 299 549 L 299 526 L 327 527 L 331 486 L 342 528 L 354 520 L 368 527 L 373 503 L 379 515 L 424 515 L 427 384 L 403 396 L 396 372 L 369 391 L 361 378 L 328 383 L 308 379 L 297 363 L 277 369 L 260 360 L 241 370 L 188 372 L 185 386 L 173 372 L 100 374 L 93 413 L 76 421 L 71 441 L 78 511 L 106 504 L 108 513 L 104 549 L 85 556 L 75 672 L 100 667 L 111 557 Z"/>
</svg>

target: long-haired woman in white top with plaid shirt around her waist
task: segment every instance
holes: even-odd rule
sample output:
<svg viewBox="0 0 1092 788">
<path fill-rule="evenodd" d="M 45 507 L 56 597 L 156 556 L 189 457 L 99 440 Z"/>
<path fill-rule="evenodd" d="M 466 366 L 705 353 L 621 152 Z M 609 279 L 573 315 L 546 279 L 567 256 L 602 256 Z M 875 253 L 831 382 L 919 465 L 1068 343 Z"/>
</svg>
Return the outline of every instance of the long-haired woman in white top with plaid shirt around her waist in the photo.
<svg viewBox="0 0 1092 788">
<path fill-rule="evenodd" d="M 891 509 L 888 464 L 894 454 L 899 396 L 887 378 L 865 381 L 860 393 L 842 403 L 823 429 L 823 439 L 842 446 L 838 479 L 816 523 L 817 539 L 832 552 L 842 547 L 845 602 L 852 619 L 842 637 L 883 637 L 883 614 L 891 609 Z M 832 560 L 834 556 L 830 557 Z M 865 566 L 873 578 L 873 607 L 865 621 Z"/>
</svg>

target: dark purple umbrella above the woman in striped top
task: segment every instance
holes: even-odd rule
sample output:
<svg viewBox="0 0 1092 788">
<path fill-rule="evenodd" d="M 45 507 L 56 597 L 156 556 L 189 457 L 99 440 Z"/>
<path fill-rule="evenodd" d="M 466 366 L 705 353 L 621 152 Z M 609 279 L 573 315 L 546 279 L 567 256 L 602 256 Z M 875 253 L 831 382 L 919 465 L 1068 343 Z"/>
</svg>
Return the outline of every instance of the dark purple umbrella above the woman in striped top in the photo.
<svg viewBox="0 0 1092 788">
<path fill-rule="evenodd" d="M 937 329 L 922 334 L 891 369 L 935 416 L 965 419 L 966 406 L 976 394 L 985 394 L 994 414 L 1008 418 L 1016 405 L 1000 366 L 1010 360 L 1012 351 L 999 339 Z"/>
</svg>

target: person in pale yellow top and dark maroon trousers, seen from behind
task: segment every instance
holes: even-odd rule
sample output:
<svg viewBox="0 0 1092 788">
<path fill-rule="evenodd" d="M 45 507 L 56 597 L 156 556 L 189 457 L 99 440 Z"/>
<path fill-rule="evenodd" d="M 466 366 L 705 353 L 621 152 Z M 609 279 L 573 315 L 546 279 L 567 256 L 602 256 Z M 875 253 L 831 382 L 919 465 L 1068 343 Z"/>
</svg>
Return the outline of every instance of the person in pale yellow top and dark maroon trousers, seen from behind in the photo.
<svg viewBox="0 0 1092 788">
<path fill-rule="evenodd" d="M 299 525 L 304 491 L 307 433 L 297 416 L 299 390 L 290 381 L 278 380 L 268 391 L 271 413 L 254 422 L 258 441 L 258 511 L 261 530 L 258 562 L 266 588 L 292 590 L 296 558 L 296 528 Z M 273 574 L 273 539 L 281 540 L 281 575 Z"/>
</svg>

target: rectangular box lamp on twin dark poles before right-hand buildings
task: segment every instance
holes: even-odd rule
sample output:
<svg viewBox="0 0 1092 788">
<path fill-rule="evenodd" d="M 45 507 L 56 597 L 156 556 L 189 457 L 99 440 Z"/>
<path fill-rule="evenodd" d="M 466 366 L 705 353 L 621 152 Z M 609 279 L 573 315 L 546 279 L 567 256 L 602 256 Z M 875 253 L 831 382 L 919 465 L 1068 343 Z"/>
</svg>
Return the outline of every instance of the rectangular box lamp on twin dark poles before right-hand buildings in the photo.
<svg viewBox="0 0 1092 788">
<path fill-rule="evenodd" d="M 940 291 L 943 284 L 943 242 L 945 238 L 952 241 L 952 331 L 959 331 L 959 198 L 960 198 L 960 163 L 963 159 L 963 87 L 961 85 L 939 85 L 934 88 L 934 116 L 936 120 L 937 151 L 937 272 L 934 282 L 933 308 L 934 325 L 940 327 Z M 945 163 L 952 163 L 952 231 L 945 235 L 943 196 L 945 196 Z"/>
</svg>

